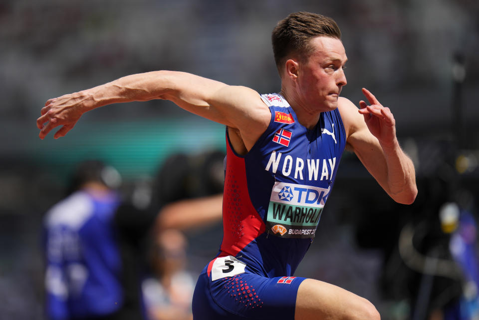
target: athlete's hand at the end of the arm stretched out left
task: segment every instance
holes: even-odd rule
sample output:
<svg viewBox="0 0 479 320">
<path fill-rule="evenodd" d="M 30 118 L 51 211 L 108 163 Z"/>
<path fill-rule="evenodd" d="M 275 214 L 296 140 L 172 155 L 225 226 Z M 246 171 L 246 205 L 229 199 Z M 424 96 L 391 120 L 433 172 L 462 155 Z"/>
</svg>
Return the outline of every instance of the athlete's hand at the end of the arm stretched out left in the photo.
<svg viewBox="0 0 479 320">
<path fill-rule="evenodd" d="M 86 106 L 88 97 L 86 91 L 80 91 L 46 101 L 41 109 L 41 116 L 36 120 L 36 126 L 40 129 L 38 135 L 40 139 L 57 126 L 62 127 L 53 136 L 55 139 L 63 137 L 70 131 L 81 115 L 88 110 Z"/>
</svg>

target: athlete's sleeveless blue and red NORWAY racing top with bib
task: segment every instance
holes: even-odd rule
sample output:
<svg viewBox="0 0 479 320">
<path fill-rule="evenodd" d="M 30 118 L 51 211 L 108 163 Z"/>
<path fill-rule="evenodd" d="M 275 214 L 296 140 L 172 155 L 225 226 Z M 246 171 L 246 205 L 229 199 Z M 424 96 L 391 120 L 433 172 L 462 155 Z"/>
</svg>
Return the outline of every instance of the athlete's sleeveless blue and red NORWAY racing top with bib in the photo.
<svg viewBox="0 0 479 320">
<path fill-rule="evenodd" d="M 261 98 L 271 121 L 246 155 L 235 153 L 227 131 L 219 256 L 265 277 L 291 276 L 316 232 L 346 134 L 337 109 L 322 112 L 308 130 L 281 95 Z"/>
</svg>

